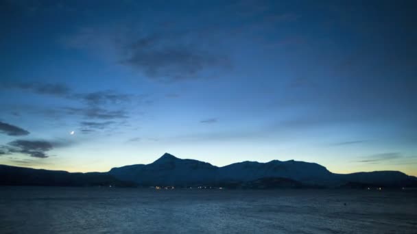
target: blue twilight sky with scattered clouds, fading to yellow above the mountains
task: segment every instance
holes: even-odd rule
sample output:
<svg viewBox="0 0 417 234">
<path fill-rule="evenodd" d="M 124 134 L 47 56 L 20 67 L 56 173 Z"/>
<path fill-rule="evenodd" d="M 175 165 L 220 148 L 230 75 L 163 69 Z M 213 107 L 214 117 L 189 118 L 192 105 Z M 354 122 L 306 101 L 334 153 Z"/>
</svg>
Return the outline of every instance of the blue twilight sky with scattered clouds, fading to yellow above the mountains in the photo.
<svg viewBox="0 0 417 234">
<path fill-rule="evenodd" d="M 416 1 L 0 1 L 0 164 L 417 176 Z"/>
</svg>

